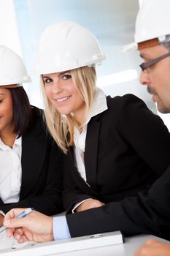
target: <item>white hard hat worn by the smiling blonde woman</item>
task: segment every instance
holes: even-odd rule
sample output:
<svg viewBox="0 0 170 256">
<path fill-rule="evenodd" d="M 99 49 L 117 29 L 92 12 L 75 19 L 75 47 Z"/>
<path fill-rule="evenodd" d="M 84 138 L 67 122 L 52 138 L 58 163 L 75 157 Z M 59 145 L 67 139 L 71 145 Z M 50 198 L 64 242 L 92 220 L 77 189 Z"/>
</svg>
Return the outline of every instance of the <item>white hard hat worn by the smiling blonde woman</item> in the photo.
<svg viewBox="0 0 170 256">
<path fill-rule="evenodd" d="M 96 37 L 72 21 L 48 26 L 42 33 L 36 72 L 48 74 L 100 63 L 105 59 Z"/>
</svg>

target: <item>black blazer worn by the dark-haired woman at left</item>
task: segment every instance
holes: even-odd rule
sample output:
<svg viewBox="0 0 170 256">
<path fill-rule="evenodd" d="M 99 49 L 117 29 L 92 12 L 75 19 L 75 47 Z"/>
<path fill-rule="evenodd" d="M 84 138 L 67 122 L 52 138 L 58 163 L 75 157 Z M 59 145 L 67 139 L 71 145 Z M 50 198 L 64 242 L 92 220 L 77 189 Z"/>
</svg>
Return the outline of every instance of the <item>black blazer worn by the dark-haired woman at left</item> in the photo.
<svg viewBox="0 0 170 256">
<path fill-rule="evenodd" d="M 53 142 L 42 120 L 42 112 L 32 108 L 33 127 L 22 137 L 22 181 L 18 203 L 4 204 L 5 213 L 11 208 L 34 207 L 51 215 L 63 211 L 62 154 Z M 9 188 L 10 189 L 10 188 Z"/>
</svg>

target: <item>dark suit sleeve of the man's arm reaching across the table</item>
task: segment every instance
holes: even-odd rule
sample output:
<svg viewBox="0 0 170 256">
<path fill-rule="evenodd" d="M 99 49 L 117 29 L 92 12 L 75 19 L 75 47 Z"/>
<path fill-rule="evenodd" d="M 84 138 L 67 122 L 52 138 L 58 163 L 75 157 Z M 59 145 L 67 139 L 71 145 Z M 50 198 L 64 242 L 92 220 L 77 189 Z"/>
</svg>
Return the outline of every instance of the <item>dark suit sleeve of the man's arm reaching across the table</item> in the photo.
<svg viewBox="0 0 170 256">
<path fill-rule="evenodd" d="M 143 233 L 170 239 L 169 190 L 170 167 L 148 192 L 66 215 L 69 232 L 76 237 L 120 230 L 124 236 Z"/>
</svg>

